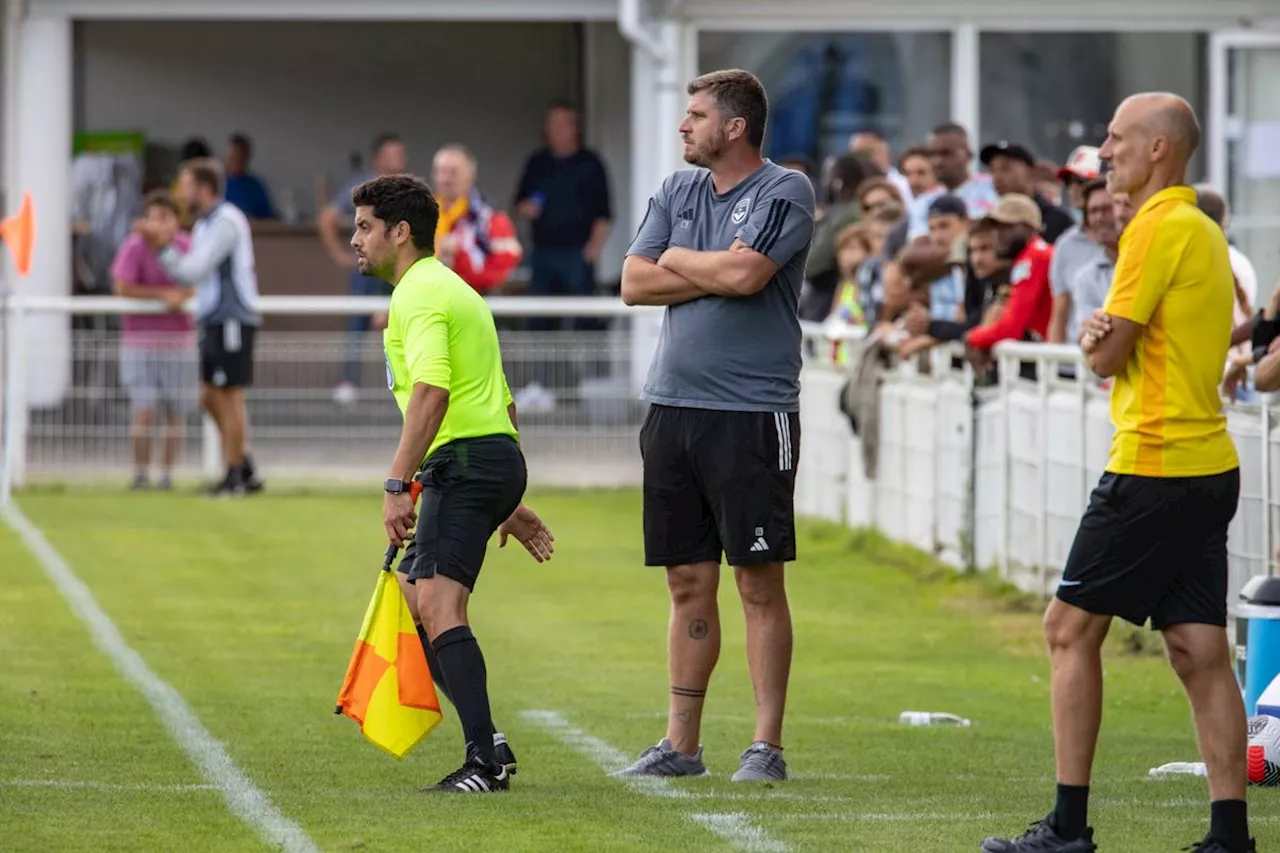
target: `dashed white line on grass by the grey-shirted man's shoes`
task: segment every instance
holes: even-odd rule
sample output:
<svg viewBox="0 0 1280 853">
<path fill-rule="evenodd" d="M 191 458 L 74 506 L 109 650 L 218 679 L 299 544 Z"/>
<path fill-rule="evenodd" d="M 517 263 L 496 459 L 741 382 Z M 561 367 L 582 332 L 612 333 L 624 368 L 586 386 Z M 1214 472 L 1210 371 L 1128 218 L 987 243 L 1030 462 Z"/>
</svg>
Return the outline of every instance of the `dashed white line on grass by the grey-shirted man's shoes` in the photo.
<svg viewBox="0 0 1280 853">
<path fill-rule="evenodd" d="M 586 756 L 607 774 L 613 772 L 614 770 L 621 770 L 631 763 L 631 758 L 628 758 L 625 752 L 613 744 L 586 734 L 556 711 L 521 711 L 520 716 L 550 733 L 567 747 L 571 747 Z M 717 794 L 708 794 L 705 792 L 696 793 L 675 788 L 669 781 L 660 776 L 635 776 L 622 779 L 621 781 L 631 790 L 648 794 L 649 797 L 666 797 L 671 799 L 727 798 Z M 742 795 L 733 794 L 732 797 Z M 787 853 L 791 849 L 786 845 L 786 843 L 769 838 L 763 829 L 751 824 L 750 818 L 742 813 L 712 815 L 699 812 L 687 815 L 687 817 L 695 824 L 718 835 L 721 839 L 728 841 L 737 849 L 746 850 L 746 853 Z"/>
</svg>

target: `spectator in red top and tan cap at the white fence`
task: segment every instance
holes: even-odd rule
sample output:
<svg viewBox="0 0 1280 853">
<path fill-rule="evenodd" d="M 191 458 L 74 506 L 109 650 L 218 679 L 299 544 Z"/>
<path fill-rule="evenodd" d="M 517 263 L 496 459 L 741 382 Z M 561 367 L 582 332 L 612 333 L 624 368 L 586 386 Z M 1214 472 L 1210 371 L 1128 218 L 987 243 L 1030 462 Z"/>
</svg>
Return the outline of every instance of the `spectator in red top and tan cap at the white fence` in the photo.
<svg viewBox="0 0 1280 853">
<path fill-rule="evenodd" d="M 1048 268 L 1053 247 L 1039 237 L 1039 207 L 1025 196 L 1001 199 L 988 219 L 1000 229 L 1000 247 L 1010 251 L 1021 243 L 1009 274 L 1009 300 L 1000 318 L 969 332 L 965 343 L 975 350 L 989 350 L 1001 341 L 1044 341 L 1053 314 L 1053 293 L 1048 286 Z"/>
</svg>

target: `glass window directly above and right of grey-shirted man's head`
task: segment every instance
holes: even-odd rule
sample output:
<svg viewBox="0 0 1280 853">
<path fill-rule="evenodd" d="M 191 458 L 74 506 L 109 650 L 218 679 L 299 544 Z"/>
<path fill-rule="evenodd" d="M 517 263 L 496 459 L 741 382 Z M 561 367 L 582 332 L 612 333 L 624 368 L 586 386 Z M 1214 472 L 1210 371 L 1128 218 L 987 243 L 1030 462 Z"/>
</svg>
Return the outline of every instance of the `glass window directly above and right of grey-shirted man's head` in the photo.
<svg viewBox="0 0 1280 853">
<path fill-rule="evenodd" d="M 895 152 L 923 142 L 951 110 L 948 32 L 699 33 L 700 72 L 745 68 L 769 93 L 765 154 L 814 163 L 844 154 L 863 128 Z"/>
</svg>

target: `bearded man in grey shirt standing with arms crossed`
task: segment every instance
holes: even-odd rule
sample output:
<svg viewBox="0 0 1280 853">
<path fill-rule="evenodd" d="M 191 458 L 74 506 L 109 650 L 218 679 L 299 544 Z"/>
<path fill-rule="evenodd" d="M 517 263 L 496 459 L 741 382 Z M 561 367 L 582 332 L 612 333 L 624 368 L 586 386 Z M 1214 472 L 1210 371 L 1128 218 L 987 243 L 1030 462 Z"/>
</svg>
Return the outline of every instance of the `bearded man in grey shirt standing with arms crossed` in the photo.
<svg viewBox="0 0 1280 853">
<path fill-rule="evenodd" d="M 707 772 L 699 734 L 719 657 L 717 588 L 733 566 L 756 726 L 735 781 L 786 779 L 791 670 L 783 565 L 795 560 L 800 455 L 796 306 L 813 240 L 810 182 L 760 158 L 768 100 L 742 70 L 689 85 L 680 133 L 696 169 L 668 177 L 622 269 L 628 305 L 666 305 L 644 396 L 645 564 L 671 593 L 667 736 L 628 776 Z"/>
</svg>

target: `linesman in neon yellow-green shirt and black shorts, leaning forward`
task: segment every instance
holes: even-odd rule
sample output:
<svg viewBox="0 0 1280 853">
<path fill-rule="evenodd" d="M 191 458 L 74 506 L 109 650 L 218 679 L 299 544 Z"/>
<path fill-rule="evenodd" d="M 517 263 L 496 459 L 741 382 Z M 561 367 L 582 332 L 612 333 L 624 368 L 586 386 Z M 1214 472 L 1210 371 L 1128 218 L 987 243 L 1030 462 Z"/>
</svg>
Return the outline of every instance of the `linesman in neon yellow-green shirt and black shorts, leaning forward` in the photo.
<svg viewBox="0 0 1280 853">
<path fill-rule="evenodd" d="M 408 543 L 401 588 L 431 678 L 466 736 L 462 767 L 430 790 L 506 790 L 516 758 L 494 730 L 467 601 L 494 532 L 499 544 L 512 535 L 539 562 L 552 555 L 552 535 L 521 503 L 525 457 L 493 314 L 434 256 L 439 207 L 431 188 L 413 175 L 384 175 L 356 187 L 351 199 L 360 272 L 394 287 L 383 341 L 387 387 L 404 426 L 385 483 L 383 523 L 394 544 Z M 411 479 L 422 484 L 421 517 Z"/>
</svg>

